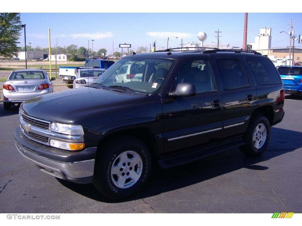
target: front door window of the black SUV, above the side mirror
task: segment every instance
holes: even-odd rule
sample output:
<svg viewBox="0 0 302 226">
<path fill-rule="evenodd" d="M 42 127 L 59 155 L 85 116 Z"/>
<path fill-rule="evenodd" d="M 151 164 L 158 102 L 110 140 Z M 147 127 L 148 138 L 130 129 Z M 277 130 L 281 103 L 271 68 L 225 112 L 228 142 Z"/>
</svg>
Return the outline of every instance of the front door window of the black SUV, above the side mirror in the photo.
<svg viewBox="0 0 302 226">
<path fill-rule="evenodd" d="M 216 90 L 210 63 L 206 60 L 186 61 L 178 71 L 174 83 L 174 89 L 178 83 L 192 83 L 196 93 Z"/>
</svg>

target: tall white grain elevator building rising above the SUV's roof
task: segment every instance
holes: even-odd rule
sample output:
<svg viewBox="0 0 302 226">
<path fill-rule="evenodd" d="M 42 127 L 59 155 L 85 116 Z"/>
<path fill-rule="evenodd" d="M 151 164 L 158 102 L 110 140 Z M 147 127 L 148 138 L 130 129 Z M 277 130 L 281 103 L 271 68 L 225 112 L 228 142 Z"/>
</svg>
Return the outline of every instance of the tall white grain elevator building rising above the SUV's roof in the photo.
<svg viewBox="0 0 302 226">
<path fill-rule="evenodd" d="M 271 49 L 271 28 L 260 28 L 258 36 L 255 36 L 255 42 L 250 42 L 253 50 Z"/>
</svg>

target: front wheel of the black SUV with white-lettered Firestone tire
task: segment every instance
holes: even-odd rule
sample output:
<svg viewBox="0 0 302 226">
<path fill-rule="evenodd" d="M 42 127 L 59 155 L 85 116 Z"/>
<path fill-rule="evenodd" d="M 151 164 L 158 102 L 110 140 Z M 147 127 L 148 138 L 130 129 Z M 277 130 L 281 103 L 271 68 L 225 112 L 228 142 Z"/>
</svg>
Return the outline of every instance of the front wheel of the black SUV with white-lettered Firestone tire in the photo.
<svg viewBox="0 0 302 226">
<path fill-rule="evenodd" d="M 101 194 L 118 200 L 133 196 L 143 188 L 151 173 L 152 161 L 148 147 L 141 140 L 135 137 L 111 140 L 99 151 L 95 161 L 93 184 Z M 136 175 L 136 179 L 131 175 Z"/>
</svg>

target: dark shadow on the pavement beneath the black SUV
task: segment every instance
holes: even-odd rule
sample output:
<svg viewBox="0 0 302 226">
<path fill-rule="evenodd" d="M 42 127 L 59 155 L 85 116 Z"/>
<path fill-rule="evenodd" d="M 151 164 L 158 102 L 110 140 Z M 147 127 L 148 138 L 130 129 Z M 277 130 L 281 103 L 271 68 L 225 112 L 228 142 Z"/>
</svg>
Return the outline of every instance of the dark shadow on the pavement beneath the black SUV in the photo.
<svg viewBox="0 0 302 226">
<path fill-rule="evenodd" d="M 259 157 L 248 158 L 240 152 L 239 148 L 236 148 L 179 167 L 155 170 L 146 187 L 137 196 L 121 201 L 107 199 L 98 193 L 92 184 L 81 185 L 63 180 L 59 182 L 70 190 L 100 202 L 116 203 L 144 199 L 197 184 L 241 168 L 266 170 L 268 167 L 255 164 L 302 147 L 302 133 L 300 132 L 272 127 L 271 137 L 274 137 L 274 141 L 270 141 L 268 149 Z"/>
</svg>

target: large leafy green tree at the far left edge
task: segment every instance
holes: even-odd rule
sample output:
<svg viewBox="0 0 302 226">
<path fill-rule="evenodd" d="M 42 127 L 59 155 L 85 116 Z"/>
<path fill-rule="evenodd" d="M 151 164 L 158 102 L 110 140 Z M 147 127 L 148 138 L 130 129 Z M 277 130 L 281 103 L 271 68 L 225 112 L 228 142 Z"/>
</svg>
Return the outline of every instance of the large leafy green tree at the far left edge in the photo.
<svg viewBox="0 0 302 226">
<path fill-rule="evenodd" d="M 0 13 L 0 55 L 12 58 L 18 55 L 17 42 L 21 35 L 20 13 Z"/>
</svg>

